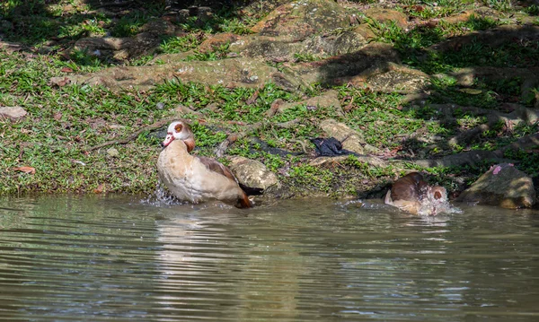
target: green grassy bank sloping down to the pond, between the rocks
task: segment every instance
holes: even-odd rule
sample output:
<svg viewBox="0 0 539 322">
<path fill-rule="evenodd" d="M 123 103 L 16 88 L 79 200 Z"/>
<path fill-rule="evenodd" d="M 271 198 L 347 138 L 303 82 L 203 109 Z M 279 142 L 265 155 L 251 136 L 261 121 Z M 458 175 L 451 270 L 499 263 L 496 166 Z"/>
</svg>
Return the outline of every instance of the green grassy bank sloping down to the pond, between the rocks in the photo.
<svg viewBox="0 0 539 322">
<path fill-rule="evenodd" d="M 157 53 L 185 52 L 212 34 L 227 31 L 248 32 L 261 14 L 239 14 L 226 10 L 200 25 L 194 20 L 182 22 L 181 36 L 163 37 L 153 55 L 128 61 L 93 57 L 84 51 L 70 51 L 75 40 L 110 34 L 128 37 L 144 23 L 163 15 L 160 4 L 142 5 L 125 12 L 98 10 L 79 0 L 45 1 L 9 0 L 0 4 L 2 39 L 21 44 L 21 50 L 0 49 L 0 106 L 20 106 L 28 115 L 19 120 L 0 120 L 0 195 L 25 193 L 142 193 L 150 194 L 157 184 L 155 161 L 161 151 L 158 131 L 143 131 L 127 144 L 111 144 L 102 149 L 93 147 L 128 137 L 166 117 L 177 115 L 179 105 L 189 107 L 190 119 L 197 138 L 199 155 L 215 156 L 215 149 L 227 135 L 242 131 L 245 126 L 264 122 L 261 129 L 236 141 L 227 155 L 242 155 L 262 161 L 278 174 L 284 183 L 283 196 L 309 196 L 314 193 L 331 196 L 365 196 L 376 192 L 402 173 L 392 166 L 379 168 L 354 157 L 346 161 L 314 166 L 314 145 L 310 139 L 323 135 L 320 122 L 328 117 L 359 130 L 367 144 L 374 145 L 384 156 L 402 160 L 436 159 L 453 153 L 473 150 L 497 150 L 519 137 L 538 132 L 539 126 L 499 124 L 489 131 L 461 144 L 449 144 L 458 133 L 487 122 L 487 117 L 461 112 L 455 123 L 444 123 L 443 117 L 430 103 L 448 100 L 462 106 L 499 109 L 508 102 L 534 108 L 538 89 L 521 95 L 522 79 L 518 77 L 484 82 L 475 80 L 475 91 L 463 91 L 455 78 L 446 76 L 457 68 L 480 66 L 536 66 L 537 45 L 518 43 L 496 48 L 476 44 L 458 51 L 439 53 L 428 50 L 444 39 L 474 30 L 490 30 L 508 23 L 503 16 L 512 14 L 536 17 L 536 6 L 517 7 L 495 2 L 490 7 L 501 14 L 476 17 L 464 22 L 441 22 L 434 28 L 418 26 L 403 30 L 393 23 L 370 22 L 376 39 L 392 43 L 405 64 L 427 74 L 440 74 L 430 85 L 437 95 L 425 104 L 411 109 L 404 95 L 381 93 L 368 88 L 314 85 L 313 91 L 291 93 L 275 84 L 254 90 L 205 86 L 171 81 L 150 91 L 112 92 L 100 87 L 50 83 L 53 76 L 92 72 L 110 65 L 142 65 Z M 395 4 L 394 9 L 420 19 L 446 17 L 485 3 L 438 2 L 435 5 L 413 1 Z M 420 8 L 420 6 L 423 6 Z M 248 9 L 248 8 L 247 8 Z M 355 9 L 350 9 L 355 10 Z M 513 23 L 511 21 L 511 23 Z M 539 21 L 537 22 L 539 24 Z M 195 52 L 188 59 L 208 60 L 225 57 L 226 46 L 214 51 Z M 307 59 L 308 58 L 308 59 Z M 298 57 L 312 60 L 315 57 Z M 265 112 L 272 102 L 304 100 L 323 91 L 336 90 L 346 112 L 340 116 L 333 109 L 298 106 L 272 117 Z M 255 98 L 255 100 L 253 100 Z M 296 121 L 295 126 L 275 126 Z M 254 138 L 254 139 L 253 139 Z M 110 150 L 112 148 L 112 150 Z M 274 153 L 280 149 L 285 153 Z M 288 153 L 286 153 L 288 152 Z M 537 176 L 539 157 L 533 150 L 507 152 L 505 157 L 519 161 L 519 169 Z M 220 159 L 224 163 L 226 158 Z M 491 162 L 458 168 L 426 170 L 431 181 L 457 190 L 473 182 Z M 29 167 L 29 168 L 21 168 Z M 33 169 L 33 170 L 32 170 Z M 34 172 L 35 170 L 35 172 Z M 27 173 L 30 172 L 30 173 Z"/>
</svg>

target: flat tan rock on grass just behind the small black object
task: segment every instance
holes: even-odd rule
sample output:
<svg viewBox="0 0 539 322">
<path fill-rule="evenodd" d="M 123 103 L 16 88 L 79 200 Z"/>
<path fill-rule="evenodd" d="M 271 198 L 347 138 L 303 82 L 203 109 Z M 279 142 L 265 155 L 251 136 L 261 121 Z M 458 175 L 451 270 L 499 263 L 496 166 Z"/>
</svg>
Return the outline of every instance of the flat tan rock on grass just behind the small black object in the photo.
<svg viewBox="0 0 539 322">
<path fill-rule="evenodd" d="M 358 154 L 379 152 L 376 147 L 367 144 L 363 135 L 352 130 L 344 123 L 339 123 L 332 118 L 320 122 L 320 128 L 328 137 L 334 137 L 340 141 L 342 148 Z"/>
</svg>

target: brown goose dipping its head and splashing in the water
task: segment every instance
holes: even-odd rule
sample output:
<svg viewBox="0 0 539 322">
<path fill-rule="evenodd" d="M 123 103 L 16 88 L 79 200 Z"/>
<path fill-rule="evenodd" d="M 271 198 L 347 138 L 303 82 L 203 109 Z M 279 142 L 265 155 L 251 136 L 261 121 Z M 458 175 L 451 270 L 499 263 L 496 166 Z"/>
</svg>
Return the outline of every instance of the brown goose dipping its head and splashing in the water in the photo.
<svg viewBox="0 0 539 322">
<path fill-rule="evenodd" d="M 445 187 L 429 186 L 418 172 L 411 172 L 393 183 L 384 203 L 408 213 L 436 215 L 446 209 L 447 192 Z"/>
</svg>

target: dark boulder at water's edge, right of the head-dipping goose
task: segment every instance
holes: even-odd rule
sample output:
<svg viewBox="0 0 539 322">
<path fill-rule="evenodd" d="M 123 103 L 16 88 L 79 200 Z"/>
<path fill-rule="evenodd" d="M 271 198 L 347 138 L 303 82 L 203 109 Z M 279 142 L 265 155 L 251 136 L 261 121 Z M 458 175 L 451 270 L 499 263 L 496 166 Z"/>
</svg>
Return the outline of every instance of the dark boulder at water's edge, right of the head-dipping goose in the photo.
<svg viewBox="0 0 539 322">
<path fill-rule="evenodd" d="M 502 208 L 530 208 L 535 205 L 535 188 L 532 178 L 517 170 L 511 163 L 492 166 L 456 201 L 479 205 L 497 205 Z"/>
</svg>

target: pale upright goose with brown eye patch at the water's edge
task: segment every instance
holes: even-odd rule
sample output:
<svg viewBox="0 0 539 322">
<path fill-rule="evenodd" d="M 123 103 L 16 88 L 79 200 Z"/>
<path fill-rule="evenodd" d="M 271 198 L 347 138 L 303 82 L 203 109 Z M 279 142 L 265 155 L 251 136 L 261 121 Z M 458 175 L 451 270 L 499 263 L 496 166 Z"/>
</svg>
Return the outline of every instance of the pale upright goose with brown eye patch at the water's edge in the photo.
<svg viewBox="0 0 539 322">
<path fill-rule="evenodd" d="M 180 200 L 198 204 L 216 199 L 238 208 L 249 208 L 252 202 L 243 188 L 251 195 L 261 195 L 261 189 L 240 187 L 223 164 L 190 155 L 195 148 L 195 137 L 185 122 L 174 121 L 168 126 L 162 146 L 157 160 L 159 178 Z"/>
</svg>

